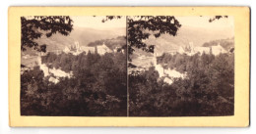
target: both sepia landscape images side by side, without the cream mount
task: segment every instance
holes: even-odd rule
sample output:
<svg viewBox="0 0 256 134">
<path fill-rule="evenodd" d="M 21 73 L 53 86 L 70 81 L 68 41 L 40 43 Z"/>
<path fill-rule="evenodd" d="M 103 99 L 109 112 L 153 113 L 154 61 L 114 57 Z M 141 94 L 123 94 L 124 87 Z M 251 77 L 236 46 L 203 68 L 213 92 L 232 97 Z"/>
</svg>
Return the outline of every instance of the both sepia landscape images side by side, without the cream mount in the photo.
<svg viewBox="0 0 256 134">
<path fill-rule="evenodd" d="M 232 17 L 21 22 L 22 115 L 233 115 Z"/>
</svg>

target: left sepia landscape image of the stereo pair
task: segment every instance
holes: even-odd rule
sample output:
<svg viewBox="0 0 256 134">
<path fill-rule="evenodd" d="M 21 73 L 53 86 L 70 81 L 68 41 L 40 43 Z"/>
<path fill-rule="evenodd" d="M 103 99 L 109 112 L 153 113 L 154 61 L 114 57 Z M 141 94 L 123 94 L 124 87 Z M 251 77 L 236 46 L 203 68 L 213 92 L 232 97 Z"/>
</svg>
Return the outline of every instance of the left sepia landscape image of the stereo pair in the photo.
<svg viewBox="0 0 256 134">
<path fill-rule="evenodd" d="M 21 114 L 126 116 L 125 18 L 22 17 Z"/>
</svg>

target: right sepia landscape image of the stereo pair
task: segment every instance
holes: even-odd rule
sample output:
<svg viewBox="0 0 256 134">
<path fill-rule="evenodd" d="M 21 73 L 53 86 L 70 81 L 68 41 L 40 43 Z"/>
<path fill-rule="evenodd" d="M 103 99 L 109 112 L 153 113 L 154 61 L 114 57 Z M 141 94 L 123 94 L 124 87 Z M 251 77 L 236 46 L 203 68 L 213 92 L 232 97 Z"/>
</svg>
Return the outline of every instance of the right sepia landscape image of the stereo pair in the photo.
<svg viewBox="0 0 256 134">
<path fill-rule="evenodd" d="M 128 17 L 130 116 L 234 113 L 229 16 Z"/>
</svg>

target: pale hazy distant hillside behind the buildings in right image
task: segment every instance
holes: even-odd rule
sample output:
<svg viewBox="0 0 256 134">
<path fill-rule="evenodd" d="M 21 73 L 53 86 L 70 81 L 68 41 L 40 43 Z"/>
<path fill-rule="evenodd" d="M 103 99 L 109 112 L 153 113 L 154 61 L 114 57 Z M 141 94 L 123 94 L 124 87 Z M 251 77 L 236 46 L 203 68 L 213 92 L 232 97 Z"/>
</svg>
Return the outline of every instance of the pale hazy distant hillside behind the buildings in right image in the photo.
<svg viewBox="0 0 256 134">
<path fill-rule="evenodd" d="M 193 42 L 193 45 L 203 46 L 205 42 L 212 40 L 219 40 L 225 38 L 231 38 L 234 36 L 233 29 L 230 28 L 202 28 L 202 27 L 191 27 L 191 26 L 181 26 L 177 31 L 176 36 L 171 36 L 169 34 L 162 34 L 159 38 L 153 36 L 146 40 L 147 44 L 156 45 L 156 52 L 165 52 L 172 49 L 176 49 L 179 46 L 186 46 L 189 42 Z"/>
</svg>

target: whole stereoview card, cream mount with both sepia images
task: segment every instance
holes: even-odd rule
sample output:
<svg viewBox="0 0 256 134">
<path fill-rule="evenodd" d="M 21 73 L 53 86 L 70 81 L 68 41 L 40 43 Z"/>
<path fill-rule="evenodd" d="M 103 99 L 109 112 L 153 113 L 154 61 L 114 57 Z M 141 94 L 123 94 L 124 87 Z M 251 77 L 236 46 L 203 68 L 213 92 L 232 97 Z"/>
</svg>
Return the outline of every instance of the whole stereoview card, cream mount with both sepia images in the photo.
<svg viewBox="0 0 256 134">
<path fill-rule="evenodd" d="M 11 7 L 10 126 L 248 126 L 248 7 Z"/>
</svg>

